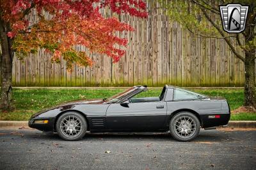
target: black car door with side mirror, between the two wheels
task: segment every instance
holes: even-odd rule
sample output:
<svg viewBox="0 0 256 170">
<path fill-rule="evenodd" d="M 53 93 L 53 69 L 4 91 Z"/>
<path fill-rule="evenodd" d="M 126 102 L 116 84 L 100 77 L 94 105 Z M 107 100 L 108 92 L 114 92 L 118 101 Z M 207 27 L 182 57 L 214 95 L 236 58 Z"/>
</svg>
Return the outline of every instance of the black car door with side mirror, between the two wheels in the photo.
<svg viewBox="0 0 256 170">
<path fill-rule="evenodd" d="M 166 102 L 111 104 L 106 112 L 109 130 L 147 132 L 160 130 L 166 119 Z"/>
</svg>

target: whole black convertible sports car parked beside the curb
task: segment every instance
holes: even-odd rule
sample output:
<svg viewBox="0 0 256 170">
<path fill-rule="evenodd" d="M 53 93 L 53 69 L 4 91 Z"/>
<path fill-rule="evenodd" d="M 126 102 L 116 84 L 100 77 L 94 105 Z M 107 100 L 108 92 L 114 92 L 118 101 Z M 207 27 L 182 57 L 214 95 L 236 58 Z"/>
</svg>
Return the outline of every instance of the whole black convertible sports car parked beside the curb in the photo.
<svg viewBox="0 0 256 170">
<path fill-rule="evenodd" d="M 111 98 L 79 100 L 37 112 L 29 127 L 58 132 L 67 141 L 93 132 L 167 132 L 178 141 L 191 141 L 200 127 L 227 125 L 227 100 L 186 89 L 164 86 L 159 97 L 138 98 L 147 86 L 134 86 Z"/>
</svg>

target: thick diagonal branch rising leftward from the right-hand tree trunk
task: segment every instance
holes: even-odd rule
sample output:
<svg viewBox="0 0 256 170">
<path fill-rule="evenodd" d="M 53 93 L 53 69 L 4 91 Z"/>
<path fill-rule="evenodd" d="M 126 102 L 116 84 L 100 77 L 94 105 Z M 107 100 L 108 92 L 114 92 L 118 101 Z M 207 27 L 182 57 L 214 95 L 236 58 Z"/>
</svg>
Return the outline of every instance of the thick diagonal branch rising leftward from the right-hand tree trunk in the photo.
<svg viewBox="0 0 256 170">
<path fill-rule="evenodd" d="M 211 19 L 211 17 L 209 17 L 209 15 L 205 12 L 204 8 L 201 8 L 202 12 L 204 13 L 205 17 L 209 20 L 209 22 L 211 22 L 212 26 L 214 26 L 220 33 L 221 36 L 223 36 L 224 40 L 227 42 L 228 46 L 230 47 L 230 49 L 232 50 L 232 52 L 234 52 L 234 54 L 237 56 L 237 58 L 241 59 L 241 61 L 244 62 L 244 58 L 243 56 L 241 56 L 235 49 L 235 47 L 232 45 L 231 41 L 228 40 L 227 37 L 225 37 L 224 32 L 221 30 L 221 28 L 215 24 L 215 22 L 213 22 L 213 20 Z"/>
</svg>

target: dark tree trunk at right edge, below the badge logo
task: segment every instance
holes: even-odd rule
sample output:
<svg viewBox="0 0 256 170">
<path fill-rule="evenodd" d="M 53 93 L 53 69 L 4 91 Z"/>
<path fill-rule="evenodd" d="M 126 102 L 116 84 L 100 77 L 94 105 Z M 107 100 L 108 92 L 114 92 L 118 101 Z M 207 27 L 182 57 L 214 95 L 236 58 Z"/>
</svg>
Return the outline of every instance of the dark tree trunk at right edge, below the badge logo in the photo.
<svg viewBox="0 0 256 170">
<path fill-rule="evenodd" d="M 244 68 L 244 105 L 253 106 L 256 108 L 256 92 L 255 92 L 255 54 L 245 52 Z M 253 52 L 254 53 L 254 52 Z"/>
</svg>

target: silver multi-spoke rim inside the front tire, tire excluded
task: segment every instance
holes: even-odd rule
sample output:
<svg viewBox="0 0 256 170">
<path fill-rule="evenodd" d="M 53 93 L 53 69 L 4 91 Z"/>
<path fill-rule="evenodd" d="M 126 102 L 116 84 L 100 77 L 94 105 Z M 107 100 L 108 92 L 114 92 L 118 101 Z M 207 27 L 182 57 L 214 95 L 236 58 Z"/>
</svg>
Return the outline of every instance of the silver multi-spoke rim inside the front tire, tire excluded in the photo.
<svg viewBox="0 0 256 170">
<path fill-rule="evenodd" d="M 83 130 L 82 121 L 77 116 L 66 116 L 61 120 L 60 130 L 66 137 L 77 137 Z"/>
</svg>

